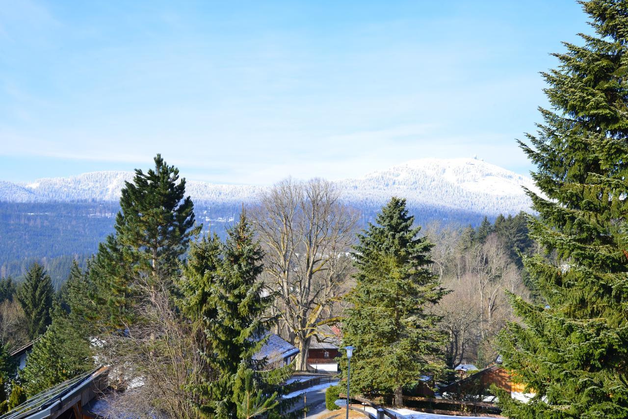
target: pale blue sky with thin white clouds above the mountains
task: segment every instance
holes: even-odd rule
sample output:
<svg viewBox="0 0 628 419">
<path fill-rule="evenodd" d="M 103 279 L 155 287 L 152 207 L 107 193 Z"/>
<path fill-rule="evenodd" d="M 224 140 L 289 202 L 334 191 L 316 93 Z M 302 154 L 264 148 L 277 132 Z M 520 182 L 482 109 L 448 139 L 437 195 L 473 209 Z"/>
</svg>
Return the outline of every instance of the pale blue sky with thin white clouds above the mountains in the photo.
<svg viewBox="0 0 628 419">
<path fill-rule="evenodd" d="M 220 183 L 472 155 L 526 173 L 538 72 L 582 31 L 571 0 L 0 0 L 0 180 L 155 153 Z"/>
</svg>

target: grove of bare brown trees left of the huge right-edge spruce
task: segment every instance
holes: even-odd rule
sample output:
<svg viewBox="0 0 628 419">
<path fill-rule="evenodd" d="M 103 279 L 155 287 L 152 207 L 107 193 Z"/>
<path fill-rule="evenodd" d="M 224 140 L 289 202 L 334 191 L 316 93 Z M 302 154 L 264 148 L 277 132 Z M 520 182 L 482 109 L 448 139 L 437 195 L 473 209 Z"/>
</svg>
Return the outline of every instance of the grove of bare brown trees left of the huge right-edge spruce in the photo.
<svg viewBox="0 0 628 419">
<path fill-rule="evenodd" d="M 460 226 L 431 223 L 425 230 L 435 243 L 433 272 L 452 290 L 435 308 L 449 337 L 449 367 L 494 361 L 492 340 L 514 319 L 505 291 L 526 294 L 519 269 L 495 234 L 477 242 Z"/>
</svg>

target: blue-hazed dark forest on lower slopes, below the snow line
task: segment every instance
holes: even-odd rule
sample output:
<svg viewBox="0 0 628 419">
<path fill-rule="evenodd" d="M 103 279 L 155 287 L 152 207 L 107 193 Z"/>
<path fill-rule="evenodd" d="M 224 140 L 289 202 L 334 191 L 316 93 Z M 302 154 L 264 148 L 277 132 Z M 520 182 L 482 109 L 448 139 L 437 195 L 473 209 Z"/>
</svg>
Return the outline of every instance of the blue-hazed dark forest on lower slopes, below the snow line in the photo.
<svg viewBox="0 0 628 419">
<path fill-rule="evenodd" d="M 353 206 L 361 214 L 362 227 L 379 210 L 379 204 L 371 202 Z M 85 268 L 98 244 L 113 231 L 119 209 L 117 202 L 0 202 L 0 248 L 3 249 L 0 278 L 11 276 L 20 281 L 36 261 L 48 271 L 58 290 L 70 273 L 72 261 Z M 438 220 L 443 224 L 477 227 L 484 218 L 483 214 L 430 205 L 409 209 L 421 226 Z M 240 211 L 239 204 L 195 202 L 197 222 L 203 224 L 203 231 L 211 229 L 221 238 Z M 491 222 L 494 219 L 489 218 Z"/>
</svg>

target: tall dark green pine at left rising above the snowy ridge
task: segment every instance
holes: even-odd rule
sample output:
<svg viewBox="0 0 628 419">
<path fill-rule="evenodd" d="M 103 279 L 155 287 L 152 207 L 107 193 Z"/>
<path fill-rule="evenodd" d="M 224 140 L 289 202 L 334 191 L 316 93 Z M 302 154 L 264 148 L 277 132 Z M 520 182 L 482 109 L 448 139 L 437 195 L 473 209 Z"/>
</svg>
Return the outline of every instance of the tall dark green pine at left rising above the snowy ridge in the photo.
<svg viewBox="0 0 628 419">
<path fill-rule="evenodd" d="M 190 237 L 200 230 L 192 200 L 185 197 L 185 178 L 159 154 L 154 163 L 147 173 L 136 169 L 133 182 L 125 183 L 116 232 L 100 244 L 92 264 L 99 283 L 92 297 L 109 306 L 112 325 L 133 320 L 129 307 L 138 281 L 148 293 L 170 288 Z"/>
</svg>

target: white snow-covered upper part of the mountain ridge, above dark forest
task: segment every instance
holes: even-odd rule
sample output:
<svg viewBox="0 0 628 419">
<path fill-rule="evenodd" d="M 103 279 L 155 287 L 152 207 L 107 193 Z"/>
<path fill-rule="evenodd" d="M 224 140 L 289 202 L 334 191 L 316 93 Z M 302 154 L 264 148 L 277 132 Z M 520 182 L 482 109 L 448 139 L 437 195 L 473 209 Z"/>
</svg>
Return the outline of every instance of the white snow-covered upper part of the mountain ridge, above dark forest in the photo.
<svg viewBox="0 0 628 419">
<path fill-rule="evenodd" d="M 42 178 L 31 183 L 0 181 L 0 202 L 116 201 L 133 172 L 97 171 L 68 178 Z M 532 180 L 472 158 L 422 159 L 374 171 L 360 178 L 338 180 L 344 199 L 374 207 L 396 195 L 412 207 L 442 207 L 485 215 L 529 210 L 521 186 Z M 187 182 L 193 200 L 225 204 L 254 202 L 266 187 Z"/>
</svg>

